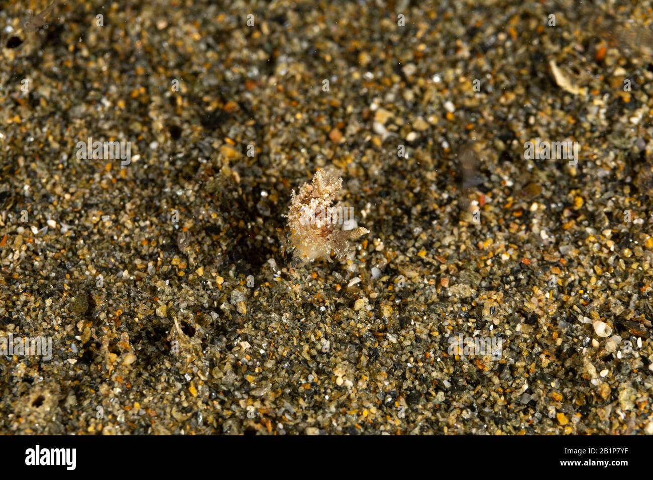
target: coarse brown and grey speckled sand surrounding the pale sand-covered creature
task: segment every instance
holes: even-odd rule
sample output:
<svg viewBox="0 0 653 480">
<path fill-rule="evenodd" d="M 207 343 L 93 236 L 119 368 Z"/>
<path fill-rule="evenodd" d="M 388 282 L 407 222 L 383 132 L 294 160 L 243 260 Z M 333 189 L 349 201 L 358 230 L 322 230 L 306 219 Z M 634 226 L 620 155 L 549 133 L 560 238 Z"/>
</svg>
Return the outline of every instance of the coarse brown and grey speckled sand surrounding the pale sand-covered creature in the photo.
<svg viewBox="0 0 653 480">
<path fill-rule="evenodd" d="M 653 433 L 653 3 L 597 3 L 71 0 L 20 48 L 6 5 L 0 337 L 53 351 L 0 432 Z M 330 165 L 370 233 L 296 266 Z"/>
</svg>

